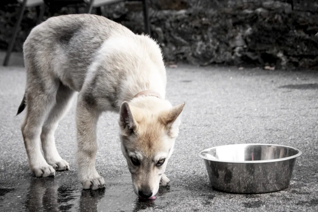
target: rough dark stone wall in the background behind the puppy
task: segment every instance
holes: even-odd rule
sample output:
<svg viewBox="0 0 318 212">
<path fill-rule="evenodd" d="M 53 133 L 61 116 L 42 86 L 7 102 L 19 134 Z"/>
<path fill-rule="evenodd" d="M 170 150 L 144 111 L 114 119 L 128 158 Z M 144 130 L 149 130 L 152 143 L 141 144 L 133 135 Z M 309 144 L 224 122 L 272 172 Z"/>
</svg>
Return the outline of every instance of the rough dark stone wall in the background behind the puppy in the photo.
<svg viewBox="0 0 318 212">
<path fill-rule="evenodd" d="M 0 3 L 1 4 L 1 3 Z M 316 0 L 149 0 L 152 37 L 170 63 L 257 65 L 318 70 Z M 0 6 L 0 49 L 5 50 L 18 9 Z M 84 8 L 47 9 L 44 20 Z M 142 4 L 127 1 L 93 10 L 136 33 L 143 32 Z M 36 25 L 25 11 L 14 51 Z"/>
</svg>

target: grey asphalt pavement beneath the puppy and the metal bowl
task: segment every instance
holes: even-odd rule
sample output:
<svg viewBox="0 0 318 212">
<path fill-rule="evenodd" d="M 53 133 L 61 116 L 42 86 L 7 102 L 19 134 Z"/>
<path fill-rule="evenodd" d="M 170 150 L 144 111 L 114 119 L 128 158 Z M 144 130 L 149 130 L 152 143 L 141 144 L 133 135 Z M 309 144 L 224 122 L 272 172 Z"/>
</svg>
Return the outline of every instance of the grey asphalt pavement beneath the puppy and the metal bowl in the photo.
<svg viewBox="0 0 318 212">
<path fill-rule="evenodd" d="M 117 137 L 117 115 L 98 127 L 97 170 L 104 191 L 82 191 L 74 164 L 75 104 L 60 122 L 56 143 L 71 170 L 35 178 L 20 132 L 24 112 L 21 65 L 0 66 L 0 211 L 318 211 L 318 74 L 235 67 L 168 68 L 167 98 L 186 102 L 180 135 L 166 174 L 170 187 L 154 202 L 134 194 Z M 75 102 L 74 102 L 75 103 Z M 299 148 L 290 186 L 239 195 L 214 191 L 203 160 L 205 148 L 234 143 L 272 143 Z"/>
</svg>

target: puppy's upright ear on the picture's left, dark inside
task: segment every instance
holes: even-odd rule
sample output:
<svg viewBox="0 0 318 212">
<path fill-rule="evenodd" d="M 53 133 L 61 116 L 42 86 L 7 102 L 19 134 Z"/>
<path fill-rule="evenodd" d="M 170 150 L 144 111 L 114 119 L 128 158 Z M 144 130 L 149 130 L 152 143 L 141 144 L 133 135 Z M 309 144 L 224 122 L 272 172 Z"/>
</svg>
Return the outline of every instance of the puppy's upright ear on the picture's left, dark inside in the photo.
<svg viewBox="0 0 318 212">
<path fill-rule="evenodd" d="M 124 101 L 121 104 L 119 110 L 119 125 L 121 127 L 121 131 L 127 135 L 133 133 L 134 130 L 137 128 L 138 124 L 134 118 L 134 115 L 131 112 L 131 109 L 127 101 Z"/>
</svg>

